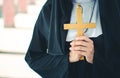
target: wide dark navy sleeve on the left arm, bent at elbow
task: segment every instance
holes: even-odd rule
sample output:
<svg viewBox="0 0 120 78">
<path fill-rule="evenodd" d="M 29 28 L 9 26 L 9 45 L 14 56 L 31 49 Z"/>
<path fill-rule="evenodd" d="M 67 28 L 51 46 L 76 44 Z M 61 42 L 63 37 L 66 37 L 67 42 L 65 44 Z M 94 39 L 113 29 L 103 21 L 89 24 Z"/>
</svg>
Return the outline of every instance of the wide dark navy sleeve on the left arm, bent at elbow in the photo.
<svg viewBox="0 0 120 78">
<path fill-rule="evenodd" d="M 50 55 L 47 53 L 50 12 L 51 5 L 48 5 L 47 2 L 36 21 L 25 60 L 43 78 L 66 78 L 69 64 L 68 55 Z"/>
</svg>

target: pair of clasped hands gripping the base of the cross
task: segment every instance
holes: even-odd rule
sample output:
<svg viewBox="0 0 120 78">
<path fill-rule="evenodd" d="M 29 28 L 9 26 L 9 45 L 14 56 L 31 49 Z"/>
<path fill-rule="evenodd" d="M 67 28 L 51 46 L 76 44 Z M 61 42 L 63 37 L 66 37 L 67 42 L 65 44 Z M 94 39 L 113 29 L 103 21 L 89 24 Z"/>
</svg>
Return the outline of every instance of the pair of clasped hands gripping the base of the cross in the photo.
<svg viewBox="0 0 120 78">
<path fill-rule="evenodd" d="M 81 56 L 85 56 L 88 63 L 93 63 L 94 44 L 91 39 L 87 36 L 76 37 L 70 45 L 69 61 L 71 63 L 79 61 Z"/>
</svg>

